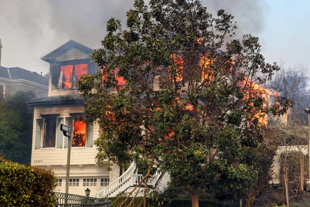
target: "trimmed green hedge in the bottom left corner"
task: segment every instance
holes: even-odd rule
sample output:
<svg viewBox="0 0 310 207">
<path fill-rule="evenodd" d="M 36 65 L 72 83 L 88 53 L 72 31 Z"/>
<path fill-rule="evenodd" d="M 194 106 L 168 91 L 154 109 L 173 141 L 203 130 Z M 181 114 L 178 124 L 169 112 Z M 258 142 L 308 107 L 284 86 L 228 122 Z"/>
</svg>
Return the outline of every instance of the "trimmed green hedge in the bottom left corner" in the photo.
<svg viewBox="0 0 310 207">
<path fill-rule="evenodd" d="M 54 206 L 55 176 L 51 171 L 0 157 L 0 206 Z"/>
</svg>

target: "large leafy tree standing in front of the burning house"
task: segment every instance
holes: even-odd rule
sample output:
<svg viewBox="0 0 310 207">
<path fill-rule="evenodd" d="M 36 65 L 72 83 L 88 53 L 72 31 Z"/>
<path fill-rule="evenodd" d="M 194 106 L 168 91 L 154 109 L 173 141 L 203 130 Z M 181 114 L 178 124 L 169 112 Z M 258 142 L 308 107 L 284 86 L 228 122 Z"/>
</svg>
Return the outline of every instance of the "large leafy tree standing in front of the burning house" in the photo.
<svg viewBox="0 0 310 207">
<path fill-rule="evenodd" d="M 144 177 L 128 197 L 157 169 L 184 186 L 195 207 L 197 191 L 220 178 L 247 189 L 257 178 L 260 119 L 292 104 L 267 106 L 257 87 L 279 67 L 264 62 L 258 38 L 233 39 L 237 26 L 224 10 L 213 17 L 196 0 L 136 0 L 134 7 L 127 30 L 108 21 L 104 49 L 92 55 L 101 72 L 77 83 L 86 121 L 102 129 L 98 162 L 135 161 Z"/>
</svg>

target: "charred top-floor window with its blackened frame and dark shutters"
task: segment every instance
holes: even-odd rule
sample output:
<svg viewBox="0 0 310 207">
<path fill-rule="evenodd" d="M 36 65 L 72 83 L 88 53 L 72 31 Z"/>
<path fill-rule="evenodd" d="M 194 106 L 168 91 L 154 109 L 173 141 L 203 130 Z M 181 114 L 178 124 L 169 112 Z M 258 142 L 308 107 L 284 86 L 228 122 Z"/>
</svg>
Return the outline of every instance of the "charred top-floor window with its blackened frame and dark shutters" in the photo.
<svg viewBox="0 0 310 207">
<path fill-rule="evenodd" d="M 75 83 L 80 79 L 80 75 L 95 74 L 95 63 L 89 62 L 90 59 L 81 59 L 73 61 L 61 61 L 51 64 L 51 89 L 74 90 Z M 82 73 L 81 67 L 86 66 L 86 72 Z M 72 67 L 72 68 L 71 68 Z M 69 71 L 68 71 L 69 70 Z M 65 73 L 67 71 L 67 73 Z M 64 80 L 65 79 L 65 80 Z M 66 85 L 63 81 L 68 82 Z"/>
</svg>

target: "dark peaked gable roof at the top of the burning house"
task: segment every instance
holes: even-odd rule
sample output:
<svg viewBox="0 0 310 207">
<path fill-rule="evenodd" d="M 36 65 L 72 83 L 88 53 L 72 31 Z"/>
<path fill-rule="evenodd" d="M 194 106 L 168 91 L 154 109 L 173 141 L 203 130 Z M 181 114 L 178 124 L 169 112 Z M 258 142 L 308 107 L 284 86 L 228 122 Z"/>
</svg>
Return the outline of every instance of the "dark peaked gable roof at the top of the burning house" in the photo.
<svg viewBox="0 0 310 207">
<path fill-rule="evenodd" d="M 70 49 L 72 48 L 76 48 L 81 50 L 82 52 L 85 52 L 87 54 L 91 54 L 94 52 L 93 49 L 78 43 L 72 39 L 70 39 L 68 42 L 66 42 L 65 44 L 61 45 L 60 47 L 56 48 L 55 50 L 53 50 L 52 52 L 48 53 L 47 55 L 45 55 L 43 58 L 41 58 L 42 60 L 46 61 L 46 62 L 51 62 L 53 61 L 53 59 L 60 57 L 61 55 L 63 55 L 64 53 L 68 52 Z"/>
</svg>

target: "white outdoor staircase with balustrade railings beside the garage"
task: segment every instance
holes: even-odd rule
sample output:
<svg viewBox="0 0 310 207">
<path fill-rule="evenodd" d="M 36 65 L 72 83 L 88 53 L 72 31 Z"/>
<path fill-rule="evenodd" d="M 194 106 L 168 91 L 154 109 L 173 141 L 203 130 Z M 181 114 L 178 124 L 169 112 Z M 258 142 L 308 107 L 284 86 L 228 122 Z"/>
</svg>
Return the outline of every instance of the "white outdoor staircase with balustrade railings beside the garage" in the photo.
<svg viewBox="0 0 310 207">
<path fill-rule="evenodd" d="M 118 193 L 128 190 L 131 187 L 136 186 L 143 178 L 141 174 L 135 174 L 136 165 L 134 162 L 131 163 L 129 168 L 119 178 L 117 178 L 110 185 L 102 189 L 97 193 L 97 198 L 113 197 Z M 161 172 L 156 172 L 153 176 L 148 179 L 148 186 L 155 187 Z M 144 184 L 144 182 L 142 183 Z"/>
</svg>

